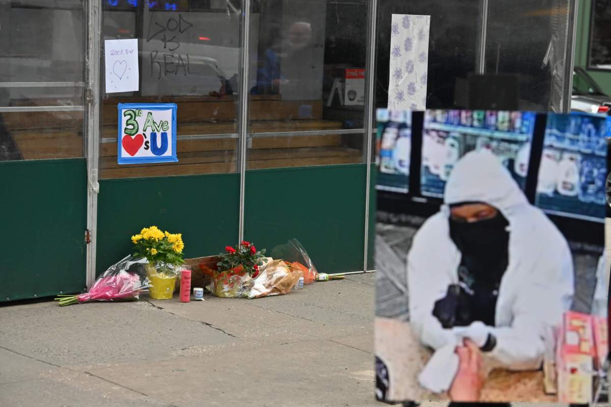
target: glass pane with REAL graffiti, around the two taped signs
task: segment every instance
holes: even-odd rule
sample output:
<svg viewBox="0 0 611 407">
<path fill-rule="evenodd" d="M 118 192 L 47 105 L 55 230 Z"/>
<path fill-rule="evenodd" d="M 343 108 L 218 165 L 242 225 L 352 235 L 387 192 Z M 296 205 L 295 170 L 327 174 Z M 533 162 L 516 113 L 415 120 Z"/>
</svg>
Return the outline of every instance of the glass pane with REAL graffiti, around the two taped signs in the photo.
<svg viewBox="0 0 611 407">
<path fill-rule="evenodd" d="M 104 40 L 138 39 L 140 83 L 104 94 L 101 178 L 236 171 L 240 13 L 227 4 L 104 1 Z M 178 162 L 117 164 L 119 103 L 176 103 Z"/>
</svg>

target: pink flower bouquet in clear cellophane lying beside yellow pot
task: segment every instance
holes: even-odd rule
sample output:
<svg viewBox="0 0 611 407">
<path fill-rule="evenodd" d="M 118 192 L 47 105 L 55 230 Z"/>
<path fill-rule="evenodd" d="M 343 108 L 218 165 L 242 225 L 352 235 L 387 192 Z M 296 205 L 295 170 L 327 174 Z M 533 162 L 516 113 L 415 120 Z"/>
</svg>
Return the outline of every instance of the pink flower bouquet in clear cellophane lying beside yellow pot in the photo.
<svg viewBox="0 0 611 407">
<path fill-rule="evenodd" d="M 102 273 L 87 292 L 61 295 L 56 301 L 63 306 L 87 301 L 137 300 L 150 287 L 147 267 L 146 258 L 127 256 Z"/>
</svg>

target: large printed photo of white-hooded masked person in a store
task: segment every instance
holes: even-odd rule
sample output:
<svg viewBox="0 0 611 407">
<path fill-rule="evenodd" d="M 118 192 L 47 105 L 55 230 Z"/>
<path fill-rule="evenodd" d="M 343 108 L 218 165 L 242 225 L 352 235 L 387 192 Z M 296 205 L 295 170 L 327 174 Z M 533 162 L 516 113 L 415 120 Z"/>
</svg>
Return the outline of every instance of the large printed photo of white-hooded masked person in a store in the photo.
<svg viewBox="0 0 611 407">
<path fill-rule="evenodd" d="M 378 400 L 606 403 L 611 119 L 377 117 Z M 408 133 L 401 189 L 384 175 Z"/>
</svg>

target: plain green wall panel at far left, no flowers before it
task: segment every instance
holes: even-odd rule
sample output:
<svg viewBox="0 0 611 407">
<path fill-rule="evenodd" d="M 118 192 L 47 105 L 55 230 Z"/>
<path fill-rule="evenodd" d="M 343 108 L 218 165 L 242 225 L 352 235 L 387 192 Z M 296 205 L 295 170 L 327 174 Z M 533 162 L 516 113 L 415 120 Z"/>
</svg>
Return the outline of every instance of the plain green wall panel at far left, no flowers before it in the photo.
<svg viewBox="0 0 611 407">
<path fill-rule="evenodd" d="M 85 159 L 0 162 L 0 301 L 85 287 Z"/>
</svg>

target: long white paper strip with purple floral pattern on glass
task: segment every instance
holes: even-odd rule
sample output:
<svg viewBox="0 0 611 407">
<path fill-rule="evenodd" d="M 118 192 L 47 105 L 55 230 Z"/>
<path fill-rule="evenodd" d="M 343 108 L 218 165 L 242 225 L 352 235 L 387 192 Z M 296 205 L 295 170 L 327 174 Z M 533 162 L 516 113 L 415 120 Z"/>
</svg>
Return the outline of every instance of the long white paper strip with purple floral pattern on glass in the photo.
<svg viewBox="0 0 611 407">
<path fill-rule="evenodd" d="M 393 14 L 388 108 L 425 110 L 431 16 Z"/>
</svg>

